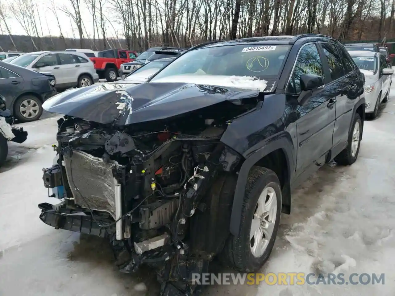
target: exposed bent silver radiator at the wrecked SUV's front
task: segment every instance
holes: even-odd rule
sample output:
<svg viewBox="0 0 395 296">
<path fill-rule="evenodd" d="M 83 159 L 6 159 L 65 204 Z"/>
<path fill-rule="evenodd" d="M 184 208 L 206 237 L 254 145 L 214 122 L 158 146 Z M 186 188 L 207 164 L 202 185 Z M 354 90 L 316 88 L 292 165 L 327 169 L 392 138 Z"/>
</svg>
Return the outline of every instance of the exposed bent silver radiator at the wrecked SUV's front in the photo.
<svg viewBox="0 0 395 296">
<path fill-rule="evenodd" d="M 117 163 L 104 163 L 82 151 L 64 155 L 67 179 L 75 204 L 82 208 L 110 213 L 115 218 L 115 185 L 112 169 Z"/>
</svg>

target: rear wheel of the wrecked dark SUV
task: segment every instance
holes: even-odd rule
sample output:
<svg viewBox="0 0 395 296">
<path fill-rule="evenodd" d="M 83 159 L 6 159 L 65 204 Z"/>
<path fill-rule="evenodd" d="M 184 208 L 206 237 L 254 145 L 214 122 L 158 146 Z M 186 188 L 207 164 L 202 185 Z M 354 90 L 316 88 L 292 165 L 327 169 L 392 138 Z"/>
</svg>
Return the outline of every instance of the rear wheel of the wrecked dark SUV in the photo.
<svg viewBox="0 0 395 296">
<path fill-rule="evenodd" d="M 348 135 L 348 145 L 335 157 L 339 165 L 352 165 L 358 158 L 361 144 L 362 120 L 358 113 L 355 113 L 354 122 L 350 135 Z"/>
</svg>

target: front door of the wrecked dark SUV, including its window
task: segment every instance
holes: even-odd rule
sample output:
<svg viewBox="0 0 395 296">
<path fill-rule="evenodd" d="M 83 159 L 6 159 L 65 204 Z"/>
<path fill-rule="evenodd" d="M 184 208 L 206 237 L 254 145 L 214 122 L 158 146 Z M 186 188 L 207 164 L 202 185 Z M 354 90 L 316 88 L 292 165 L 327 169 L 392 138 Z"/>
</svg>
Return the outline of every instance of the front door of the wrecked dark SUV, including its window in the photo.
<svg viewBox="0 0 395 296">
<path fill-rule="evenodd" d="M 322 57 L 316 43 L 301 48 L 287 86 L 287 93 L 297 97 L 297 177 L 303 173 L 311 174 L 325 163 L 325 156 L 333 145 L 336 113 L 335 96 L 327 86 L 301 90 L 300 76 L 303 74 L 324 76 Z"/>
</svg>

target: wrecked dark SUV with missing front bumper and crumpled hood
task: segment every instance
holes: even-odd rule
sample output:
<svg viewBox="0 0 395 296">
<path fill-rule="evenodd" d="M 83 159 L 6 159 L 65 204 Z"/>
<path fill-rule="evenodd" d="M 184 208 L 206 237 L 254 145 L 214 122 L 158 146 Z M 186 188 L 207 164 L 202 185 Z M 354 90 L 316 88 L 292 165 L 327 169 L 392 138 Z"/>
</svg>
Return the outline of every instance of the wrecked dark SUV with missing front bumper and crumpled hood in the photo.
<svg viewBox="0 0 395 296">
<path fill-rule="evenodd" d="M 358 156 L 364 77 L 318 34 L 198 45 L 148 82 L 70 90 L 58 121 L 56 205 L 40 219 L 108 238 L 123 272 L 158 271 L 161 295 L 192 295 L 216 255 L 240 272 L 269 258 L 291 190 Z"/>
</svg>

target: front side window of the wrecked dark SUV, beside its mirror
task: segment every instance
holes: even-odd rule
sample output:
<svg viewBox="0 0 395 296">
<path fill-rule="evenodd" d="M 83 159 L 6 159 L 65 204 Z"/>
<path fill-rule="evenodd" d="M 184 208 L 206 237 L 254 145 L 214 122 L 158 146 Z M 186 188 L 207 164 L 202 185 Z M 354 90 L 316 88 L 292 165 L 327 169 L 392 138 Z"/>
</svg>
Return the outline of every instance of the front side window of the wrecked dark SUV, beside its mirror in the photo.
<svg viewBox="0 0 395 296">
<path fill-rule="evenodd" d="M 295 68 L 288 83 L 287 92 L 299 94 L 301 92 L 300 77 L 303 74 L 315 74 L 322 76 L 322 62 L 315 44 L 302 47 L 297 58 Z"/>
</svg>

